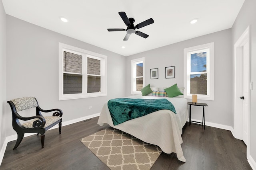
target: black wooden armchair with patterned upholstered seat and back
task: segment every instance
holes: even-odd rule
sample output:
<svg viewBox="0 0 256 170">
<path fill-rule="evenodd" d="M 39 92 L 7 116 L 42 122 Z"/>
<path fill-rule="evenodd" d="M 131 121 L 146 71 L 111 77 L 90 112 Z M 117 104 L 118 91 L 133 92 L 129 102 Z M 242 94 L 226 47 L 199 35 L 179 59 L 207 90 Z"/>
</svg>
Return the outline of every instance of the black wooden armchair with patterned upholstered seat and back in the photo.
<svg viewBox="0 0 256 170">
<path fill-rule="evenodd" d="M 59 133 L 61 134 L 61 123 L 62 123 L 62 110 L 60 109 L 50 109 L 44 110 L 38 106 L 38 102 L 36 98 L 33 97 L 25 97 L 25 98 L 17 98 L 14 100 L 8 101 L 10 107 L 12 109 L 12 127 L 14 131 L 16 131 L 18 138 L 16 144 L 13 149 L 16 149 L 23 137 L 24 133 L 37 133 L 41 136 L 41 144 L 42 148 L 44 148 L 44 136 L 45 132 L 53 127 L 54 125 L 59 124 Z M 18 111 L 31 109 L 36 107 L 36 115 L 32 117 L 22 117 L 18 114 Z M 43 116 L 42 112 L 48 113 L 52 111 L 56 111 L 52 114 L 52 116 Z M 24 123 L 20 123 L 20 120 L 25 121 Z"/>
</svg>

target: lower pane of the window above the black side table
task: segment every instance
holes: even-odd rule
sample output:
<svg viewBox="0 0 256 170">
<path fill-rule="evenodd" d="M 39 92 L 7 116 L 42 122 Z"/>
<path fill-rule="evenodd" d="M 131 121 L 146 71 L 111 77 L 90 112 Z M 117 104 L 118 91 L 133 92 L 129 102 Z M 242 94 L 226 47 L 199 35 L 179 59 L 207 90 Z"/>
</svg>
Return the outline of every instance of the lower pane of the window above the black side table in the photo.
<svg viewBox="0 0 256 170">
<path fill-rule="evenodd" d="M 207 74 L 190 75 L 190 93 L 207 95 Z"/>
</svg>

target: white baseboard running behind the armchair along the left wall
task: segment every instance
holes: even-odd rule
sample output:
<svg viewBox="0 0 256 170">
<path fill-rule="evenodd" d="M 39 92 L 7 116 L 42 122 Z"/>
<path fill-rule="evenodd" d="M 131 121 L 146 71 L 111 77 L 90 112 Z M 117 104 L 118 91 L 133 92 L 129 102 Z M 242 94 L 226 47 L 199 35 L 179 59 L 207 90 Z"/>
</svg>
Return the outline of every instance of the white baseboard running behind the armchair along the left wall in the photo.
<svg viewBox="0 0 256 170">
<path fill-rule="evenodd" d="M 84 116 L 84 117 L 80 117 L 80 118 L 77 118 L 77 119 L 73 119 L 73 120 L 70 120 L 70 121 L 64 121 L 62 122 L 62 127 L 63 126 L 66 126 L 66 125 L 70 125 L 70 124 L 73 124 L 73 123 L 77 123 L 79 121 L 84 121 L 86 119 L 90 119 L 90 118 L 93 118 L 93 117 L 97 117 L 99 116 L 100 113 L 95 113 L 93 115 L 88 115 L 88 116 Z M 52 127 L 51 129 L 55 129 L 55 128 L 59 128 L 58 125 L 55 125 L 54 127 Z M 51 130 L 49 129 L 49 131 Z M 36 133 L 25 133 L 24 137 L 28 137 L 28 136 L 31 136 L 31 135 L 34 135 Z M 11 136 L 8 136 L 5 138 L 4 140 L 4 144 L 2 146 L 2 149 L 0 151 L 0 165 L 2 164 L 2 160 L 4 158 L 4 152 L 6 150 L 6 147 L 7 147 L 7 143 L 10 142 L 10 141 L 15 141 L 17 140 L 17 134 L 16 135 L 11 135 Z"/>
</svg>

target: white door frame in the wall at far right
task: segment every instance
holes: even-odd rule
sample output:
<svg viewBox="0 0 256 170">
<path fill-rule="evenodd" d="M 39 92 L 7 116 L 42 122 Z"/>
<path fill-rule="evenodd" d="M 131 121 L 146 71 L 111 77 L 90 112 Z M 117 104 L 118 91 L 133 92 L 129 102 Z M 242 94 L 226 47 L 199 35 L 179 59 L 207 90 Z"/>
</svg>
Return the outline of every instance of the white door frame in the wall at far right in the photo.
<svg viewBox="0 0 256 170">
<path fill-rule="evenodd" d="M 248 43 L 249 50 L 249 63 L 248 63 L 248 76 L 249 82 L 251 81 L 251 27 L 246 28 L 244 33 L 234 44 L 234 137 L 242 140 L 242 106 L 243 101 L 239 98 L 243 96 L 243 46 Z M 250 89 L 250 88 L 249 88 Z M 251 106 L 251 94 L 248 94 L 248 143 L 247 143 L 247 158 L 250 155 L 250 106 Z"/>
</svg>

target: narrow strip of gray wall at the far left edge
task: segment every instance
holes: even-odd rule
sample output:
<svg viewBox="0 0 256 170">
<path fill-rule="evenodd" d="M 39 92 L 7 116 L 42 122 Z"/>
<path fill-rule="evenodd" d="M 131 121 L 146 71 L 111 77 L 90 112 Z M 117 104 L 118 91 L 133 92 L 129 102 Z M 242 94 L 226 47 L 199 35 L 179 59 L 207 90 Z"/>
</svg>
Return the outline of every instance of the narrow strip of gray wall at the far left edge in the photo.
<svg viewBox="0 0 256 170">
<path fill-rule="evenodd" d="M 6 137 L 6 14 L 0 1 L 0 150 Z"/>
</svg>

